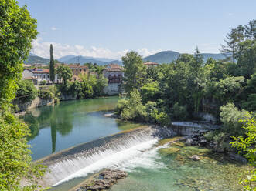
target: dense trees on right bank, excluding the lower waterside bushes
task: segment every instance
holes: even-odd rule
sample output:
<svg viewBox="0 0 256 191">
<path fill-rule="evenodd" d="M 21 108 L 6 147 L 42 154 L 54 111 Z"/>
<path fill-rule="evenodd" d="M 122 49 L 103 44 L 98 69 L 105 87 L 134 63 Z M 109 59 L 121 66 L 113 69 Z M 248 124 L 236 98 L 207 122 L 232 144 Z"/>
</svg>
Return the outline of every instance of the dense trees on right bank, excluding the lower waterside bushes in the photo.
<svg viewBox="0 0 256 191">
<path fill-rule="evenodd" d="M 200 112 L 220 120 L 220 106 L 228 102 L 255 111 L 255 28 L 256 22 L 251 21 L 232 29 L 235 35 L 228 35 L 224 46 L 227 59 L 220 61 L 203 62 L 196 48 L 194 55 L 182 54 L 174 62 L 146 69 L 141 56 L 128 52 L 123 58 L 128 96 L 137 89 L 143 104 L 155 102 L 159 111 L 175 120 L 196 119 Z"/>
</svg>

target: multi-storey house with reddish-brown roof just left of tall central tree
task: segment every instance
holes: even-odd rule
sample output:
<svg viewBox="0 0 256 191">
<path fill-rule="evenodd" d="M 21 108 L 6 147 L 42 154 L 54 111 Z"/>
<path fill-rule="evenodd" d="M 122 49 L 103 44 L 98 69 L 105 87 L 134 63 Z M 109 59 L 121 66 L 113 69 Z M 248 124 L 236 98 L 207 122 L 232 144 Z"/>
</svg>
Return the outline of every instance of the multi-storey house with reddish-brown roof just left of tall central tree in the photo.
<svg viewBox="0 0 256 191">
<path fill-rule="evenodd" d="M 104 94 L 117 95 L 121 92 L 121 84 L 124 78 L 124 69 L 118 64 L 109 64 L 103 70 L 103 75 L 108 79 L 108 86 L 104 88 Z"/>
</svg>

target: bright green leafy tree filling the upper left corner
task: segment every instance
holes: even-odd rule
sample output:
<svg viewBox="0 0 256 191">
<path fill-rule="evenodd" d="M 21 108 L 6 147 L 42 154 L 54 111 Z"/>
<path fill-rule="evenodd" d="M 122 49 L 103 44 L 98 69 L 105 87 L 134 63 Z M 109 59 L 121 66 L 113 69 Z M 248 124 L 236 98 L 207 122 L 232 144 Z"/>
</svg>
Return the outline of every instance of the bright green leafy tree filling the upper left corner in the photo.
<svg viewBox="0 0 256 191">
<path fill-rule="evenodd" d="M 9 106 L 15 98 L 16 82 L 22 74 L 31 42 L 36 39 L 36 19 L 26 6 L 19 8 L 15 0 L 0 3 L 0 106 Z"/>
</svg>

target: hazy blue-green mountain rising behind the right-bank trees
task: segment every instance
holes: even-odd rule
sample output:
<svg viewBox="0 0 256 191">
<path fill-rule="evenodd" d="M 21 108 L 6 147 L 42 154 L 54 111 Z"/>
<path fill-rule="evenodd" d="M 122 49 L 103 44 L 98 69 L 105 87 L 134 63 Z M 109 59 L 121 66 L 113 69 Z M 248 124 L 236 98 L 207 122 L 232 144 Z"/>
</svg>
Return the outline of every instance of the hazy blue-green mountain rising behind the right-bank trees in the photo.
<svg viewBox="0 0 256 191">
<path fill-rule="evenodd" d="M 159 64 L 162 63 L 169 63 L 174 60 L 176 60 L 179 57 L 180 53 L 179 52 L 174 52 L 174 51 L 162 51 L 158 52 L 155 55 L 149 55 L 145 57 L 143 60 L 146 61 L 151 61 L 151 62 L 157 62 Z M 203 61 L 206 62 L 207 59 L 213 58 L 213 59 L 225 59 L 225 56 L 222 54 L 210 54 L 210 53 L 202 53 L 200 54 L 203 56 Z"/>
</svg>

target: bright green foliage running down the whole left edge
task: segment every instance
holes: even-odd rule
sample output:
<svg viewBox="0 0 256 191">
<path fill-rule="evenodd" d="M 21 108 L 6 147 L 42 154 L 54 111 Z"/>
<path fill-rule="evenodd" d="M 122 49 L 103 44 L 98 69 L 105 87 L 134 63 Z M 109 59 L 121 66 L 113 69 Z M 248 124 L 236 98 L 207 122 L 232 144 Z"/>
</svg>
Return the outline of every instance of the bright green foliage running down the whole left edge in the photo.
<svg viewBox="0 0 256 191">
<path fill-rule="evenodd" d="M 29 129 L 11 114 L 10 103 L 21 78 L 22 62 L 38 32 L 26 6 L 17 4 L 14 0 L 0 2 L 0 189 L 36 190 L 36 179 L 43 171 L 32 163 L 26 142 Z M 23 90 L 28 89 L 29 85 Z M 21 188 L 22 178 L 31 180 L 30 186 Z"/>
</svg>

